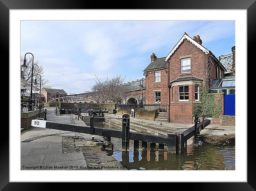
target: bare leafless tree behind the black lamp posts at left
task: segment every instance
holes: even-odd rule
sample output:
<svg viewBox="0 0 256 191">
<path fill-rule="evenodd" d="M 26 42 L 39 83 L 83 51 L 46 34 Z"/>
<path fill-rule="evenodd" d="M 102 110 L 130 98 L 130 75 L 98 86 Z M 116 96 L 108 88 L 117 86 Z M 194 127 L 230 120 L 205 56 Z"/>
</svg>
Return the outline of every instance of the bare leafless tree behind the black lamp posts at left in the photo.
<svg viewBox="0 0 256 191">
<path fill-rule="evenodd" d="M 24 57 L 20 56 L 20 63 L 21 63 L 21 65 L 23 65 L 23 61 L 24 61 Z M 38 67 L 35 64 L 37 64 Z M 32 57 L 26 56 L 26 65 L 28 66 L 28 68 L 26 70 L 21 70 L 21 77 L 26 82 L 31 84 Z M 35 81 L 35 77 L 38 74 L 41 75 L 41 87 L 51 87 L 51 86 L 48 85 L 49 84 L 49 80 L 44 77 L 44 68 L 43 68 L 43 66 L 40 64 L 40 62 L 38 60 L 34 60 L 33 82 Z M 38 76 L 38 78 L 39 77 L 40 76 Z M 38 84 L 34 85 L 34 86 L 39 88 L 39 86 L 40 86 L 40 79 L 37 79 L 37 80 L 38 80 Z"/>
</svg>

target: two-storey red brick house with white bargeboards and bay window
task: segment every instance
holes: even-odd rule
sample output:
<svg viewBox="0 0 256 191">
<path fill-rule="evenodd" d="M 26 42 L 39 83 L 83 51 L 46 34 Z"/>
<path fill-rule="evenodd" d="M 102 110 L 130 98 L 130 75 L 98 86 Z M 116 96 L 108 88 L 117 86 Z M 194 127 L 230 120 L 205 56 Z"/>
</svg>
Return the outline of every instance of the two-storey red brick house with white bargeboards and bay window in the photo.
<svg viewBox="0 0 256 191">
<path fill-rule="evenodd" d="M 200 36 L 189 37 L 186 32 L 162 58 L 152 53 L 146 75 L 146 104 L 168 104 L 168 121 L 193 122 L 193 105 L 199 103 L 198 85 L 210 86 L 223 79 L 226 68 L 204 46 Z"/>
</svg>

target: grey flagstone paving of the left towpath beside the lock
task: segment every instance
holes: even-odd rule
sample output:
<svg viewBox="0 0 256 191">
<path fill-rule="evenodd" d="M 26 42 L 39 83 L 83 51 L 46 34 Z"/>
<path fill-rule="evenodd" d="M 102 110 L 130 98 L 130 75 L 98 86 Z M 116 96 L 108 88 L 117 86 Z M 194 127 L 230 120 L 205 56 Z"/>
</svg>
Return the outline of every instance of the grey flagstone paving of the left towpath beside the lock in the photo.
<svg viewBox="0 0 256 191">
<path fill-rule="evenodd" d="M 56 116 L 55 108 L 47 108 L 47 111 L 49 121 L 66 124 L 77 122 L 72 120 L 74 116 Z M 74 137 L 79 137 L 80 141 Z M 103 137 L 95 136 L 94 139 L 102 140 Z M 86 145 L 90 140 L 92 137 L 88 134 L 31 127 L 21 133 L 21 170 L 104 170 L 108 169 L 104 168 L 108 166 L 127 170 L 122 168 L 123 166 L 114 157 L 107 156 L 107 152 L 102 151 L 102 146 Z M 94 152 L 94 156 L 84 155 L 88 152 Z M 93 164 L 91 161 L 95 155 L 98 157 L 98 163 Z M 115 163 L 109 161 L 115 161 Z M 97 166 L 96 169 L 94 165 Z"/>
</svg>

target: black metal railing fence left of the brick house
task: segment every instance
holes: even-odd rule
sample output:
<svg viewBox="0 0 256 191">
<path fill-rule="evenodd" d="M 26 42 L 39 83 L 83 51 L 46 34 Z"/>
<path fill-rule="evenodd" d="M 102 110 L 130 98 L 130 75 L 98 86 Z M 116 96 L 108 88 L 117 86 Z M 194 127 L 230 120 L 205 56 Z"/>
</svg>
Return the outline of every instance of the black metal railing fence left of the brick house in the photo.
<svg viewBox="0 0 256 191">
<path fill-rule="evenodd" d="M 167 112 L 167 104 L 137 104 L 137 105 L 118 105 L 117 109 L 144 109 L 154 112 Z"/>
</svg>

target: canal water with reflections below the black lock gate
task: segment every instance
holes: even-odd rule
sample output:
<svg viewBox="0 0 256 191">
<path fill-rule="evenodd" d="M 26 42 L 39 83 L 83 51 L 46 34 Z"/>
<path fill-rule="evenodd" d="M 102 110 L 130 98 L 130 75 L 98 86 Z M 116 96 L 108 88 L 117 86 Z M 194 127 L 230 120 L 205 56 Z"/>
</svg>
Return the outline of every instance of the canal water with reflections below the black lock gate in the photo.
<svg viewBox="0 0 256 191">
<path fill-rule="evenodd" d="M 95 126 L 108 127 L 104 123 Z M 111 138 L 114 144 L 112 155 L 128 170 L 235 170 L 234 145 L 188 145 L 187 152 L 180 155 L 158 151 L 133 151 L 133 141 L 130 141 L 130 151 L 122 152 L 122 140 Z"/>
</svg>

